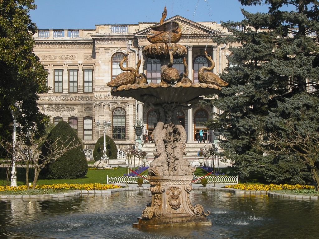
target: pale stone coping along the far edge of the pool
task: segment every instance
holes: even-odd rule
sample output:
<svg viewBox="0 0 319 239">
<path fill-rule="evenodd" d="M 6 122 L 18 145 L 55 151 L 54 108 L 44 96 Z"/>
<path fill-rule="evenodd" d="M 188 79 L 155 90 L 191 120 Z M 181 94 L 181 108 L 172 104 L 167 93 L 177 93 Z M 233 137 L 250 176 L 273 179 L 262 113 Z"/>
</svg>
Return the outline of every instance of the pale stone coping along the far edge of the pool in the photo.
<svg viewBox="0 0 319 239">
<path fill-rule="evenodd" d="M 107 190 L 74 190 L 73 192 L 67 193 L 57 193 L 57 194 L 34 194 L 34 195 L 5 195 L 0 194 L 0 200 L 8 199 L 64 199 L 70 197 L 78 197 L 82 195 L 92 195 L 92 194 L 105 194 L 113 192 L 123 192 L 123 191 L 144 191 L 149 190 L 149 187 L 128 187 L 128 188 L 114 188 Z M 301 200 L 319 200 L 319 196 L 305 196 L 305 195 L 295 195 L 295 194 L 280 194 L 270 191 L 259 191 L 259 190 L 241 190 L 235 188 L 221 188 L 221 187 L 202 187 L 196 186 L 192 188 L 193 191 L 220 191 L 220 192 L 230 192 L 237 195 L 268 195 L 268 197 L 278 198 L 278 199 L 301 199 Z"/>
</svg>

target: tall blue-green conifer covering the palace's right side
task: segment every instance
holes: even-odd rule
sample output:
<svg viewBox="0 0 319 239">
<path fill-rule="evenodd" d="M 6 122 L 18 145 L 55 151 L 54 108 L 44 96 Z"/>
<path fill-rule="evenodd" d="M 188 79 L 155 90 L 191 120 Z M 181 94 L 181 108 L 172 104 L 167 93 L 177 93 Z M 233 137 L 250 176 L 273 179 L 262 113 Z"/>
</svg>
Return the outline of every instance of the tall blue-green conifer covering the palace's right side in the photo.
<svg viewBox="0 0 319 239">
<path fill-rule="evenodd" d="M 309 163 L 303 157 L 305 148 L 291 141 L 298 132 L 308 145 L 315 145 L 319 132 L 318 2 L 240 2 L 269 4 L 269 11 L 252 14 L 242 9 L 244 20 L 222 23 L 233 33 L 218 40 L 227 42 L 233 53 L 232 65 L 221 74 L 230 84 L 213 101 L 223 113 L 207 126 L 222 132 L 221 147 L 236 162 L 241 177 L 259 172 L 270 182 L 306 183 L 311 175 L 318 187 L 315 153 Z M 287 5 L 295 11 L 283 11 Z M 308 129 L 300 129 L 298 122 Z M 288 139 L 291 143 L 285 146 Z"/>
</svg>

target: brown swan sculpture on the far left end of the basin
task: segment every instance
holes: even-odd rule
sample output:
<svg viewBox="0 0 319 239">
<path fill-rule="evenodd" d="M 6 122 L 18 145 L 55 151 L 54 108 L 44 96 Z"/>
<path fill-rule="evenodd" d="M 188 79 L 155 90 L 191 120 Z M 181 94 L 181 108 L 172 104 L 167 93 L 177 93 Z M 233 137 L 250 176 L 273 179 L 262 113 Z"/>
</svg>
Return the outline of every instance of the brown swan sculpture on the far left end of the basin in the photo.
<svg viewBox="0 0 319 239">
<path fill-rule="evenodd" d="M 130 51 L 123 56 L 123 59 L 120 62 L 120 69 L 122 72 L 118 74 L 113 80 L 107 83 L 109 87 L 118 87 L 120 85 L 134 84 L 136 81 L 136 70 L 133 67 L 123 67 L 123 62 L 129 57 Z"/>
</svg>

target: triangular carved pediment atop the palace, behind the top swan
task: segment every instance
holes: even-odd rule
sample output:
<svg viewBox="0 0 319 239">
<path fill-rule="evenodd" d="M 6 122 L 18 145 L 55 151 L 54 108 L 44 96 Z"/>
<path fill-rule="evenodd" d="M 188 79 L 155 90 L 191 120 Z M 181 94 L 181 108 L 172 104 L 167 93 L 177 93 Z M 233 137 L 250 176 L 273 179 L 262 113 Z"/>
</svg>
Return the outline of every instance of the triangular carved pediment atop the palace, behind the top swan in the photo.
<svg viewBox="0 0 319 239">
<path fill-rule="evenodd" d="M 201 25 L 197 22 L 193 22 L 187 18 L 183 18 L 179 15 L 176 15 L 172 18 L 169 18 L 165 20 L 164 22 L 169 22 L 169 21 L 176 21 L 179 23 L 179 25 L 182 26 L 182 35 L 220 35 L 221 32 L 211 29 L 207 26 Z M 159 23 L 154 24 L 154 25 L 159 25 Z M 149 33 L 151 30 L 150 27 L 147 27 L 134 35 L 136 37 L 143 36 L 145 37 L 147 33 Z"/>
</svg>

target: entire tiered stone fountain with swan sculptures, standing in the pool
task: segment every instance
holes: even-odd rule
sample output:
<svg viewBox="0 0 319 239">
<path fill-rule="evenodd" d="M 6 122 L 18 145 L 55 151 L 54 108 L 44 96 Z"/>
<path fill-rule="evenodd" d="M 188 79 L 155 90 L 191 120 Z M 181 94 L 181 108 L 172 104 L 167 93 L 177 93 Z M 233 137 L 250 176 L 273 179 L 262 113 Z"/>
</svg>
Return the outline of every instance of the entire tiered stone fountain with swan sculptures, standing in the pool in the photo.
<svg viewBox="0 0 319 239">
<path fill-rule="evenodd" d="M 165 17 L 166 8 L 160 23 L 150 26 L 152 30 L 147 39 L 152 44 L 145 46 L 143 50 L 147 57 L 161 61 L 161 82 L 148 84 L 145 74 L 137 75 L 141 64 L 139 61 L 135 70 L 123 68 L 120 64 L 121 69 L 126 72 L 108 83 L 113 87 L 112 95 L 132 97 L 144 102 L 155 109 L 158 116 L 154 130 L 155 157 L 150 163 L 147 176 L 151 185 L 152 202 L 145 207 L 138 223 L 134 223 L 133 227 L 211 225 L 211 221 L 206 218 L 209 211 L 205 212 L 199 204 L 192 206 L 189 199 L 192 173 L 196 167 L 191 167 L 188 160 L 183 158 L 186 155 L 184 149 L 187 135 L 178 121 L 177 113 L 193 108 L 203 99 L 200 96 L 216 94 L 221 91 L 220 86 L 227 83 L 212 72 L 205 72 L 211 76 L 208 82 L 192 83 L 187 78 L 188 67 L 184 58 L 186 47 L 176 44 L 182 35 L 181 26 L 175 21 L 164 23 Z M 206 57 L 209 59 L 208 54 Z M 184 58 L 185 73 L 179 74 L 177 69 L 172 68 L 173 60 L 178 58 Z M 128 75 L 130 76 L 127 77 Z"/>
</svg>

